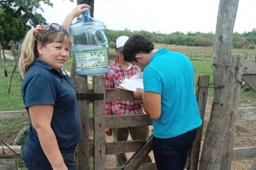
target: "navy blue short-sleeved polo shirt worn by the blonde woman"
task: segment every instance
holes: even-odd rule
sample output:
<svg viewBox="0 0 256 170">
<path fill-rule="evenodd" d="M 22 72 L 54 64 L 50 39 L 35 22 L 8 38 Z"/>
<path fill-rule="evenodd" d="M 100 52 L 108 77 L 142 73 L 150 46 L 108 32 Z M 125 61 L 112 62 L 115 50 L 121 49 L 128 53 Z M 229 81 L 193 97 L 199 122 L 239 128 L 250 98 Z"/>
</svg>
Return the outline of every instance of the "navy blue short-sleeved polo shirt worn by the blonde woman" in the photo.
<svg viewBox="0 0 256 170">
<path fill-rule="evenodd" d="M 22 83 L 25 108 L 54 105 L 51 127 L 60 150 L 73 150 L 81 139 L 81 119 L 73 82 L 62 69 L 56 71 L 46 62 L 35 59 Z M 38 135 L 30 121 L 28 139 L 41 150 Z"/>
</svg>

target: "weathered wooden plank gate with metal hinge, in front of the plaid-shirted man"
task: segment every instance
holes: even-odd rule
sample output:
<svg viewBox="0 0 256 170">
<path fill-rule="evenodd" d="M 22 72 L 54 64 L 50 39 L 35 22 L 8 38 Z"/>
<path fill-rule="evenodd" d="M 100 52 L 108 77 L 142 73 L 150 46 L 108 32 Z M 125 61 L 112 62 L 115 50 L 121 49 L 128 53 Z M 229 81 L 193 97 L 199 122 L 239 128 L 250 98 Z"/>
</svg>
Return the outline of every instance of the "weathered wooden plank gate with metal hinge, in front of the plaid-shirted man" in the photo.
<svg viewBox="0 0 256 170">
<path fill-rule="evenodd" d="M 207 102 L 209 75 L 198 78 L 197 99 L 202 120 Z M 121 89 L 105 89 L 105 77 L 93 77 L 93 89 L 89 90 L 83 77 L 76 77 L 76 93 L 82 119 L 82 139 L 78 146 L 79 170 L 89 170 L 90 157 L 93 156 L 94 170 L 105 170 L 105 155 L 134 152 L 134 155 L 123 167 L 108 170 L 157 170 L 155 163 L 140 164 L 143 156 L 151 151 L 152 135 L 147 140 L 123 142 L 105 142 L 105 128 L 136 127 L 152 125 L 146 114 L 105 116 L 105 102 L 134 100 L 133 92 Z M 88 103 L 93 102 L 93 116 L 89 116 Z M 93 130 L 93 142 L 90 142 L 89 131 Z M 196 170 L 201 145 L 203 125 L 189 154 L 186 168 Z"/>
</svg>

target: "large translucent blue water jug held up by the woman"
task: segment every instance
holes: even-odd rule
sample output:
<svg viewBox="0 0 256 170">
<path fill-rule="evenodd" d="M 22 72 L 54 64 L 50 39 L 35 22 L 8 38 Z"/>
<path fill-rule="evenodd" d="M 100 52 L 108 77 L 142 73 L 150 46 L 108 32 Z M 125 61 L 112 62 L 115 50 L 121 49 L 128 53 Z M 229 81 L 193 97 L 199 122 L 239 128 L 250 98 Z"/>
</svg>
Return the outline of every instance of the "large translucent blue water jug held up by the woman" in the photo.
<svg viewBox="0 0 256 170">
<path fill-rule="evenodd" d="M 71 25 L 77 75 L 103 74 L 110 70 L 105 28 L 102 21 L 90 17 L 89 9 L 82 14 L 79 21 Z"/>
</svg>

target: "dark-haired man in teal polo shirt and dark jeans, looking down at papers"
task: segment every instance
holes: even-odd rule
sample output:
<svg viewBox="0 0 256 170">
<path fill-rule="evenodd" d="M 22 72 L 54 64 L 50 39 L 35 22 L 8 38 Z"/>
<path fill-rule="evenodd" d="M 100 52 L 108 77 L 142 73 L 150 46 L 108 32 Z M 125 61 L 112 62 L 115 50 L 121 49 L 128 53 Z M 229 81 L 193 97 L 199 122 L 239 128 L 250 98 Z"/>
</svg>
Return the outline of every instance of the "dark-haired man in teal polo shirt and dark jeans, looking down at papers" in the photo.
<svg viewBox="0 0 256 170">
<path fill-rule="evenodd" d="M 140 34 L 128 39 L 124 60 L 144 68 L 144 89 L 134 92 L 153 119 L 152 150 L 158 170 L 183 170 L 202 120 L 195 97 L 194 68 L 185 55 L 154 48 Z"/>
</svg>

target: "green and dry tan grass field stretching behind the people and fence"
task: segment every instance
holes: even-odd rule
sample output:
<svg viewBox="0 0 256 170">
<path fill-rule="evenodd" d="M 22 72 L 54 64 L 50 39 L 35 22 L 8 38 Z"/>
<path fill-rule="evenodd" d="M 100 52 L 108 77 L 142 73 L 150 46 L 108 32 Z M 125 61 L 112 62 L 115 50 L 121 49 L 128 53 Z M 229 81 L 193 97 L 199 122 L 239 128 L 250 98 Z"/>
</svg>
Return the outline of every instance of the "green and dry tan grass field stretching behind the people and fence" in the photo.
<svg viewBox="0 0 256 170">
<path fill-rule="evenodd" d="M 156 48 L 167 47 L 169 50 L 172 51 L 179 51 L 183 54 L 195 54 L 197 56 L 192 56 L 191 58 L 204 58 L 204 55 L 199 54 L 210 54 L 213 53 L 213 49 L 210 47 L 189 47 L 189 46 L 177 46 L 177 45 L 164 45 L 164 44 L 155 44 Z M 248 53 L 252 55 L 256 55 L 256 50 L 248 50 L 248 49 L 233 49 L 236 54 L 244 54 Z M 114 53 L 113 49 L 110 49 L 109 52 L 111 54 Z M 6 54 L 11 54 L 10 51 L 5 51 Z M 73 57 L 71 57 L 66 66 L 64 67 L 65 70 L 71 71 Z M 113 59 L 110 60 L 113 62 Z M 192 63 L 195 68 L 195 77 L 198 78 L 201 74 L 208 74 L 210 75 L 210 82 L 213 83 L 213 69 L 212 69 L 212 58 L 208 57 L 207 60 L 192 60 Z M 4 59 L 2 59 L 2 65 L 4 65 Z M 11 72 L 15 66 L 15 61 L 13 59 L 8 59 L 8 75 L 11 75 Z M 0 67 L 0 111 L 17 111 L 17 110 L 24 110 L 24 105 L 21 96 L 21 81 L 16 70 L 14 79 L 12 80 L 12 86 L 10 94 L 8 94 L 8 82 L 9 77 L 5 77 L 4 75 L 4 68 Z M 213 89 L 209 89 L 209 96 L 213 95 Z M 241 93 L 243 96 L 243 93 Z M 247 94 L 245 96 L 248 96 Z"/>
</svg>

